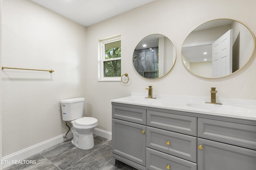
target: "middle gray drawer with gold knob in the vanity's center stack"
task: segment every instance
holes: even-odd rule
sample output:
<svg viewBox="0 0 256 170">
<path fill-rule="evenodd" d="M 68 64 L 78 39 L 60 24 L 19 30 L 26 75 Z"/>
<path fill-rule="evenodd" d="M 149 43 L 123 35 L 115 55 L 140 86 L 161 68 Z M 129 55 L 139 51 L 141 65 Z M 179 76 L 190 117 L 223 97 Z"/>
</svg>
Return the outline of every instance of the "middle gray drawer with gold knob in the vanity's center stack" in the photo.
<svg viewBox="0 0 256 170">
<path fill-rule="evenodd" d="M 196 137 L 147 127 L 147 147 L 196 162 Z"/>
</svg>

